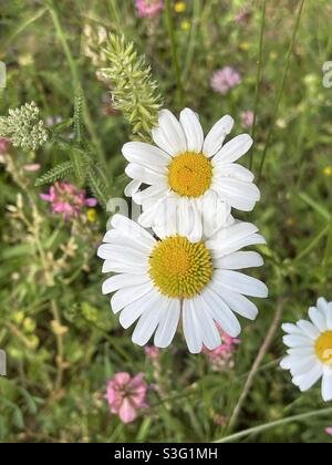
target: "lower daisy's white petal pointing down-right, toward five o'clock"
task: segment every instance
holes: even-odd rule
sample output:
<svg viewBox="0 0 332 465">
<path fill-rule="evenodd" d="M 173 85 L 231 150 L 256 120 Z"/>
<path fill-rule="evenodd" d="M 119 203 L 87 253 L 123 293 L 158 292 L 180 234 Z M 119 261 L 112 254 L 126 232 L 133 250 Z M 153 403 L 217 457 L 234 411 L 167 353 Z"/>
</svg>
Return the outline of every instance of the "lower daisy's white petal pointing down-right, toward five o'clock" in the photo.
<svg viewBox="0 0 332 465">
<path fill-rule="evenodd" d="M 240 323 L 215 289 L 206 287 L 201 297 L 208 306 L 214 320 L 220 324 L 227 334 L 231 338 L 237 338 L 241 332 Z"/>
</svg>

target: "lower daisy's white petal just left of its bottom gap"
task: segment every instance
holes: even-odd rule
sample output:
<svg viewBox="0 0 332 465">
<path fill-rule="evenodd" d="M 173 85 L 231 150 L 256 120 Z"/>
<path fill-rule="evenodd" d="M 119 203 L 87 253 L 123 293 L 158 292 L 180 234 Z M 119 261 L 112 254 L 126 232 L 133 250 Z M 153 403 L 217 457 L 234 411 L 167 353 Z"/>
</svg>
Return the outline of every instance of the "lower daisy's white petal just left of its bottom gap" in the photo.
<svg viewBox="0 0 332 465">
<path fill-rule="evenodd" d="M 167 348 L 173 341 L 180 316 L 180 301 L 169 299 L 168 308 L 157 328 L 154 344 L 157 348 Z"/>
</svg>

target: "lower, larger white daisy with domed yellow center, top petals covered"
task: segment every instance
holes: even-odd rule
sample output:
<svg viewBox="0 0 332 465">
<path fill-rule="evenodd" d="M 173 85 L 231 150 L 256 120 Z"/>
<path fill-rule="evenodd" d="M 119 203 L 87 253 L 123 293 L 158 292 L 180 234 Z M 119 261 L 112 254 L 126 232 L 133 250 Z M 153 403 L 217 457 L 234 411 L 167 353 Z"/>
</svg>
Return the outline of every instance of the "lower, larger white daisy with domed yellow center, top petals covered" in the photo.
<svg viewBox="0 0 332 465">
<path fill-rule="evenodd" d="M 239 335 L 235 313 L 256 319 L 257 307 L 245 296 L 263 298 L 268 289 L 236 271 L 263 264 L 259 254 L 239 251 L 264 244 L 256 226 L 232 221 L 212 237 L 194 242 L 169 228 L 167 236 L 156 239 L 122 215 L 115 215 L 111 224 L 113 229 L 97 252 L 105 260 L 103 272 L 115 273 L 104 282 L 103 293 L 114 292 L 111 307 L 120 312 L 124 328 L 138 320 L 132 337 L 136 344 L 146 344 L 155 333 L 154 344 L 166 348 L 181 317 L 188 349 L 198 353 L 203 344 L 210 350 L 220 345 L 217 324 L 229 335 Z"/>
</svg>

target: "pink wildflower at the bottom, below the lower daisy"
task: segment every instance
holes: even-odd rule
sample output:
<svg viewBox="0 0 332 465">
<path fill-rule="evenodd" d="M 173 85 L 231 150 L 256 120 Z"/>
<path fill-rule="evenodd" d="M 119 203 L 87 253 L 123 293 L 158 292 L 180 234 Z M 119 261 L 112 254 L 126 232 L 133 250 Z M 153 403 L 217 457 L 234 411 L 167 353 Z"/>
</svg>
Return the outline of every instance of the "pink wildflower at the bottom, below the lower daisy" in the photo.
<svg viewBox="0 0 332 465">
<path fill-rule="evenodd" d="M 118 414 L 123 423 L 131 423 L 137 417 L 138 409 L 146 407 L 147 385 L 144 373 L 131 376 L 129 373 L 116 373 L 107 382 L 106 399 L 111 413 Z"/>
</svg>

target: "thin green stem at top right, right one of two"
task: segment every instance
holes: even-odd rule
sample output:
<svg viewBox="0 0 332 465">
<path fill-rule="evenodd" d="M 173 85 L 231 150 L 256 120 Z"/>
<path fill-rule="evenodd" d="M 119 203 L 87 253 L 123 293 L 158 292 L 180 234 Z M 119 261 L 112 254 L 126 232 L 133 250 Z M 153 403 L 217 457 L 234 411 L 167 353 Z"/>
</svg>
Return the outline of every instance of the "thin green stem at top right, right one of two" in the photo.
<svg viewBox="0 0 332 465">
<path fill-rule="evenodd" d="M 274 126 L 276 126 L 276 121 L 277 121 L 279 106 L 280 106 L 281 97 L 282 97 L 282 94 L 283 94 L 283 90 L 284 90 L 286 79 L 287 79 L 287 75 L 288 75 L 289 66 L 290 66 L 290 60 L 291 60 L 291 55 L 292 55 L 292 52 L 293 52 L 297 33 L 298 33 L 299 25 L 300 25 L 300 20 L 301 20 L 301 14 L 302 14 L 304 1 L 305 0 L 301 0 L 300 7 L 299 7 L 299 10 L 298 10 L 298 14 L 297 14 L 295 24 L 294 24 L 292 37 L 291 37 L 291 41 L 290 41 L 290 45 L 289 45 L 289 49 L 288 49 L 288 52 L 287 52 L 286 65 L 284 65 L 283 74 L 282 74 L 282 78 L 281 78 L 281 83 L 280 83 L 280 86 L 279 86 L 277 100 L 276 100 L 276 103 L 274 103 L 273 115 L 272 115 L 271 124 L 270 124 L 270 127 L 269 127 L 267 142 L 266 142 L 264 149 L 263 149 L 262 157 L 261 157 L 261 162 L 260 162 L 260 167 L 259 167 L 259 173 L 258 173 L 258 183 L 257 184 L 259 184 L 259 182 L 261 180 L 262 170 L 263 170 L 263 166 L 264 166 L 264 163 L 266 163 L 268 148 L 270 146 L 273 130 L 274 130 Z"/>
</svg>

